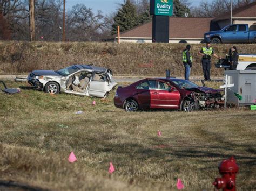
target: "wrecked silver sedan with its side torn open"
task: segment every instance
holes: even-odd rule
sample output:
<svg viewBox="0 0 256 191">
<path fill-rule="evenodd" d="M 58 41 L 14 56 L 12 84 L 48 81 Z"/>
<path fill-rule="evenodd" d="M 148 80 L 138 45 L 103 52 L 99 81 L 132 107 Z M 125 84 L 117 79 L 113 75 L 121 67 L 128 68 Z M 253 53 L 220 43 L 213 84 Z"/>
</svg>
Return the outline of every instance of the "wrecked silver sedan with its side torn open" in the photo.
<svg viewBox="0 0 256 191">
<path fill-rule="evenodd" d="M 60 70 L 34 70 L 28 82 L 46 93 L 60 91 L 83 96 L 105 98 L 117 86 L 110 69 L 93 65 L 73 65 Z"/>
</svg>

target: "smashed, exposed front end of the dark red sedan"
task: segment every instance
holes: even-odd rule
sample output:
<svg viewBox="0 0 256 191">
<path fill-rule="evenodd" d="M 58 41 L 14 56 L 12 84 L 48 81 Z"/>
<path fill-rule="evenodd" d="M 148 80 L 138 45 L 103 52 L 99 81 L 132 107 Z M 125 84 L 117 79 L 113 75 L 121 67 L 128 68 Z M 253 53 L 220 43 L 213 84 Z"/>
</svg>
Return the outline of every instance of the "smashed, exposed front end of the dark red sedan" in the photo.
<svg viewBox="0 0 256 191">
<path fill-rule="evenodd" d="M 191 97 L 198 101 L 201 109 L 217 109 L 220 105 L 224 105 L 223 90 L 211 88 L 189 88 L 189 90 Z"/>
</svg>

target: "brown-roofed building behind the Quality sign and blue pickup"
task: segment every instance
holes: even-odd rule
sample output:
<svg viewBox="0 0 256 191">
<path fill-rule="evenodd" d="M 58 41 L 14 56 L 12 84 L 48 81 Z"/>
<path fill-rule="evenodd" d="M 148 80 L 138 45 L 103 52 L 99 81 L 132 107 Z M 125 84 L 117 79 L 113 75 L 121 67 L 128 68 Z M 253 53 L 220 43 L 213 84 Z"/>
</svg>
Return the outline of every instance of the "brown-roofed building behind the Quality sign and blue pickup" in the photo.
<svg viewBox="0 0 256 191">
<path fill-rule="evenodd" d="M 233 24 L 251 26 L 256 23 L 256 2 L 234 9 L 232 15 Z M 229 24 L 230 12 L 216 18 L 170 17 L 169 43 L 201 43 L 204 33 L 220 30 Z M 152 22 L 120 33 L 120 42 L 152 43 Z"/>
</svg>

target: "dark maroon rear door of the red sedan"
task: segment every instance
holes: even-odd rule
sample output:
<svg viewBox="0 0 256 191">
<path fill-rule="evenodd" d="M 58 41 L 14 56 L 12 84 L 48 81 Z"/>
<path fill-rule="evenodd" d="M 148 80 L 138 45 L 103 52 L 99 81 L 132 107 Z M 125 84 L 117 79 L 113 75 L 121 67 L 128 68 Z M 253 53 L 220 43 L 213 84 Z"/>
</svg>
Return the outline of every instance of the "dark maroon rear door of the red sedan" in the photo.
<svg viewBox="0 0 256 191">
<path fill-rule="evenodd" d="M 150 86 L 146 79 L 135 87 L 133 98 L 138 102 L 140 109 L 150 108 Z"/>
</svg>

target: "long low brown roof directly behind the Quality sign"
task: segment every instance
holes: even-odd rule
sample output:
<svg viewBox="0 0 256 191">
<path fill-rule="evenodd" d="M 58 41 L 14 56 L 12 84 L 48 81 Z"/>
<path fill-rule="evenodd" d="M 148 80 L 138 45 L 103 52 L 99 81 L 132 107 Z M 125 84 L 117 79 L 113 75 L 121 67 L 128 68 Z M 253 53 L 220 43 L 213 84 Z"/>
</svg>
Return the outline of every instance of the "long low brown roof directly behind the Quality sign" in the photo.
<svg viewBox="0 0 256 191">
<path fill-rule="evenodd" d="M 204 33 L 210 31 L 213 18 L 170 17 L 169 38 L 204 38 Z M 152 38 L 152 22 L 124 31 L 120 37 Z"/>
</svg>

